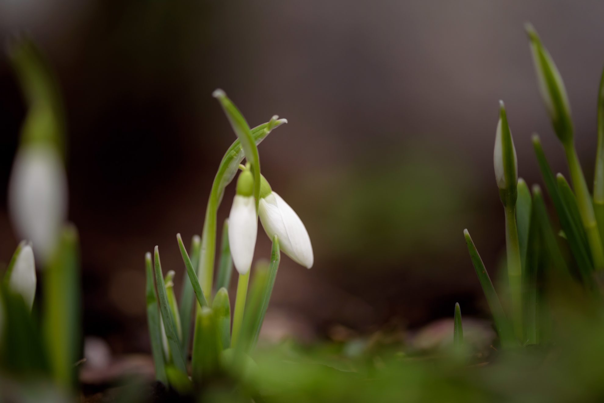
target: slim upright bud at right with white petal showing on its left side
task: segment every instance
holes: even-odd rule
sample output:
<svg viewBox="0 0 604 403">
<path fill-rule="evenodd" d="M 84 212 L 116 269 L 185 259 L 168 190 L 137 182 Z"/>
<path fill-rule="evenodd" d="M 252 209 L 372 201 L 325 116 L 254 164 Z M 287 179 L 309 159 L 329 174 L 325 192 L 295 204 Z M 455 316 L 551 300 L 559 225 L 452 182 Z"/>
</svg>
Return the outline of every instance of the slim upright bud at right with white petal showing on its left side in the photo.
<svg viewBox="0 0 604 403">
<path fill-rule="evenodd" d="M 493 165 L 495 180 L 500 192 L 516 194 L 518 183 L 518 159 L 512 139 L 512 132 L 507 122 L 506 108 L 500 101 L 500 118 L 495 133 L 495 150 L 493 150 Z M 515 197 L 513 197 L 515 201 Z"/>
</svg>

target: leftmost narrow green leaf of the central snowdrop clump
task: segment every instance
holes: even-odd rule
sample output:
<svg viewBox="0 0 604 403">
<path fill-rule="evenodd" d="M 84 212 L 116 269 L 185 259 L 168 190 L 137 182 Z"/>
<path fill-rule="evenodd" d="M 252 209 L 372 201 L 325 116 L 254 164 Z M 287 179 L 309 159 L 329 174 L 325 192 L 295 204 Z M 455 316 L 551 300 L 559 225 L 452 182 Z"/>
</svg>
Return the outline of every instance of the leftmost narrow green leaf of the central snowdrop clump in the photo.
<svg viewBox="0 0 604 403">
<path fill-rule="evenodd" d="M 153 355 L 153 363 L 155 364 L 155 378 L 164 385 L 167 385 L 168 378 L 165 374 L 164 354 L 161 345 L 159 306 L 157 293 L 155 292 L 155 277 L 153 276 L 153 264 L 150 252 L 147 252 L 145 255 L 145 270 L 147 274 L 147 327 L 149 328 L 151 353 Z"/>
</svg>

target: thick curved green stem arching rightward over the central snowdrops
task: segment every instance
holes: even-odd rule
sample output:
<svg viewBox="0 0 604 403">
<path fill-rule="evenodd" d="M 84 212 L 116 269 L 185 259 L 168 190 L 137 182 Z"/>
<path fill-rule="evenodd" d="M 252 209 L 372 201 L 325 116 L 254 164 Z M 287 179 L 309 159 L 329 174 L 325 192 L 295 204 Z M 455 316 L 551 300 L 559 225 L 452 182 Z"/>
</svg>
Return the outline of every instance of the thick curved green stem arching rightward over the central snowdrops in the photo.
<svg viewBox="0 0 604 403">
<path fill-rule="evenodd" d="M 266 136 L 281 124 L 287 123 L 286 119 L 278 119 L 273 116 L 269 122 L 263 123 L 251 130 L 252 138 L 256 145 L 260 144 Z M 243 148 L 239 139 L 231 144 L 220 161 L 218 171 L 212 183 L 208 206 L 205 210 L 204 230 L 201 236 L 201 255 L 198 267 L 198 277 L 202 281 L 202 290 L 204 294 L 211 299 L 213 276 L 214 276 L 214 258 L 216 255 L 216 221 L 217 211 L 222 201 L 222 195 L 226 186 L 231 183 L 237 167 L 243 160 Z"/>
</svg>

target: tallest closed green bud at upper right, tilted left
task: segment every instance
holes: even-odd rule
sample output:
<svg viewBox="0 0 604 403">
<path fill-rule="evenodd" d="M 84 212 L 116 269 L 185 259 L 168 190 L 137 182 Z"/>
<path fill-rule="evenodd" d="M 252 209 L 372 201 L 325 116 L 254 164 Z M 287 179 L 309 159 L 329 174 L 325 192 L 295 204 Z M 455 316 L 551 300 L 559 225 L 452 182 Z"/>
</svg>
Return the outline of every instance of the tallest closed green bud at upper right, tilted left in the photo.
<svg viewBox="0 0 604 403">
<path fill-rule="evenodd" d="M 562 141 L 562 144 L 567 145 L 573 141 L 573 121 L 562 76 L 556 68 L 556 63 L 551 59 L 550 53 L 542 45 L 535 28 L 527 24 L 525 29 L 530 40 L 541 98 L 550 114 L 556 136 Z"/>
</svg>

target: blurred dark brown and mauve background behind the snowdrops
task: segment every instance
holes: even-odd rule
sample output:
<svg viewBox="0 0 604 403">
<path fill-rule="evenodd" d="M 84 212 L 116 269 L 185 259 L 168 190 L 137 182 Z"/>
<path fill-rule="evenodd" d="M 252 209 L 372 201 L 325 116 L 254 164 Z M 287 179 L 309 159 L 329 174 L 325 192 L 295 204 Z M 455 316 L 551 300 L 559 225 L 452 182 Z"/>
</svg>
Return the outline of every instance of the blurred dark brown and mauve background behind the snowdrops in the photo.
<svg viewBox="0 0 604 403">
<path fill-rule="evenodd" d="M 455 302 L 487 317 L 462 230 L 493 276 L 504 252 L 492 168 L 498 100 L 506 102 L 520 176 L 541 182 L 533 132 L 554 170 L 567 172 L 523 24 L 535 25 L 564 77 L 591 181 L 604 4 L 253 3 L 0 0 L 3 42 L 31 36 L 62 88 L 85 334 L 109 341 L 116 354 L 149 350 L 144 253 L 159 246 L 178 292 L 184 267 L 175 235 L 201 233 L 211 182 L 235 139 L 211 97 L 217 87 L 252 127 L 275 114 L 289 120 L 260 146 L 262 171 L 315 250 L 312 270 L 283 257 L 266 335 L 313 340 L 337 326 L 364 333 L 387 323 L 417 329 L 451 317 Z M 1 262 L 19 241 L 6 189 L 24 116 L 3 54 Z M 233 194 L 231 186 L 219 222 Z M 268 258 L 260 232 L 256 255 Z"/>
</svg>

